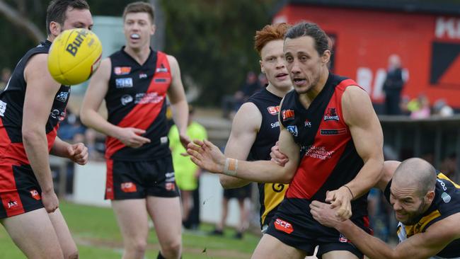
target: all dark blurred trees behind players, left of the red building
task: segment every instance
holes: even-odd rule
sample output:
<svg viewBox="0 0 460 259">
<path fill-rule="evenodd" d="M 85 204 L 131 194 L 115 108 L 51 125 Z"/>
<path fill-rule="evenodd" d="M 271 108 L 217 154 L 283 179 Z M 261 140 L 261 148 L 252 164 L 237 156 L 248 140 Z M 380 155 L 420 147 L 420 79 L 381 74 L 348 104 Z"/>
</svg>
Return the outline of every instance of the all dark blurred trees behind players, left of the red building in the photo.
<svg viewBox="0 0 460 259">
<path fill-rule="evenodd" d="M 121 16 L 133 0 L 87 0 L 93 16 Z M 152 2 L 152 1 L 150 1 Z M 200 105 L 219 105 L 248 71 L 259 71 L 255 30 L 270 23 L 277 0 L 159 0 L 166 21 L 165 51 L 180 63 L 185 85 L 200 88 Z M 22 54 L 45 40 L 48 1 L 0 0 L 0 69 L 13 69 Z"/>
</svg>

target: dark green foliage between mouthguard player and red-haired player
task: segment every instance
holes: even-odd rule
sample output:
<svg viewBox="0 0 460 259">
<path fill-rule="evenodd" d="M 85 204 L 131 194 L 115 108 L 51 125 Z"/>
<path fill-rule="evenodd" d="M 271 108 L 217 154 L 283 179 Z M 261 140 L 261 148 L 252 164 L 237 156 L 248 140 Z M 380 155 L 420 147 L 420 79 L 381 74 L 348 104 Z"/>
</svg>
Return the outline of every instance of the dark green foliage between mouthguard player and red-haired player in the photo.
<svg viewBox="0 0 460 259">
<path fill-rule="evenodd" d="M 275 1 L 161 1 L 166 13 L 166 52 L 182 74 L 200 86 L 200 105 L 219 105 L 243 84 L 249 70 L 260 71 L 253 38 L 270 23 Z"/>
</svg>

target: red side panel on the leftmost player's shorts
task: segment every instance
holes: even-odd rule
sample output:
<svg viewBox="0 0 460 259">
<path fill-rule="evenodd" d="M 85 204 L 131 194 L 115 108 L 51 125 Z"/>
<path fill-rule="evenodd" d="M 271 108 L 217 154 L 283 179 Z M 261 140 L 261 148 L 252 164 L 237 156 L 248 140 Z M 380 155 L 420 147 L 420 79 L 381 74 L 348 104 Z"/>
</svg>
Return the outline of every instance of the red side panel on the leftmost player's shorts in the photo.
<svg viewBox="0 0 460 259">
<path fill-rule="evenodd" d="M 6 217 L 23 214 L 23 202 L 16 190 L 16 180 L 14 179 L 13 166 L 19 166 L 18 163 L 11 161 L 2 161 L 0 163 L 0 199 L 6 211 Z"/>
</svg>

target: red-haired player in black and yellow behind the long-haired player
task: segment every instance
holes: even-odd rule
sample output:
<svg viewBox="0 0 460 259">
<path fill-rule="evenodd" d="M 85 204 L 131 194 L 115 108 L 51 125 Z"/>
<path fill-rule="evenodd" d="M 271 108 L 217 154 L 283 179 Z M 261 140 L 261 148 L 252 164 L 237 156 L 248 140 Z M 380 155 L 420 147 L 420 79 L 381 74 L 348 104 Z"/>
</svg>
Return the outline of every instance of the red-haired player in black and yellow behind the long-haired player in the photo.
<svg viewBox="0 0 460 259">
<path fill-rule="evenodd" d="M 268 79 L 268 86 L 244 103 L 234 117 L 225 155 L 234 159 L 270 160 L 270 149 L 280 135 L 280 101 L 292 89 L 292 82 L 284 65 L 283 38 L 289 25 L 266 25 L 255 34 L 255 50 L 260 54 L 260 70 Z M 226 189 L 248 185 L 248 181 L 220 175 Z M 260 224 L 268 225 L 284 197 L 287 185 L 259 184 Z"/>
</svg>

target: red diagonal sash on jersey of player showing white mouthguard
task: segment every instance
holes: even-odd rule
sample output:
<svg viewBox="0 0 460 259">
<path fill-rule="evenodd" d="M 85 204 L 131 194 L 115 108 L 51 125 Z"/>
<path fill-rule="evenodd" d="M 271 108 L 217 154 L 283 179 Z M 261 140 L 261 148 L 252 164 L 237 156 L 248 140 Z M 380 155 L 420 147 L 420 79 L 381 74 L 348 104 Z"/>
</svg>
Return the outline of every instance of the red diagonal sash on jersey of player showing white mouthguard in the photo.
<svg viewBox="0 0 460 259">
<path fill-rule="evenodd" d="M 138 129 L 147 129 L 159 115 L 163 103 L 166 98 L 166 92 L 171 84 L 171 68 L 169 66 L 168 57 L 163 52 L 157 52 L 156 72 L 151 79 L 149 88 L 146 93 L 157 93 L 161 97 L 159 103 L 139 103 L 118 123 L 118 127 L 136 127 Z M 162 69 L 159 69 L 162 68 Z M 163 71 L 166 68 L 167 71 Z M 155 82 L 155 79 L 168 79 L 165 82 Z M 146 98 L 149 98 L 146 95 Z M 148 101 L 148 100 L 147 100 Z M 105 158 L 110 158 L 116 151 L 125 147 L 125 144 L 114 137 L 107 137 L 105 140 L 107 149 Z"/>
</svg>

